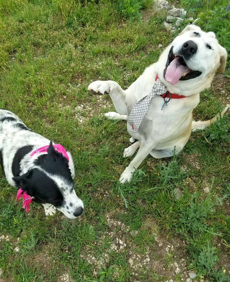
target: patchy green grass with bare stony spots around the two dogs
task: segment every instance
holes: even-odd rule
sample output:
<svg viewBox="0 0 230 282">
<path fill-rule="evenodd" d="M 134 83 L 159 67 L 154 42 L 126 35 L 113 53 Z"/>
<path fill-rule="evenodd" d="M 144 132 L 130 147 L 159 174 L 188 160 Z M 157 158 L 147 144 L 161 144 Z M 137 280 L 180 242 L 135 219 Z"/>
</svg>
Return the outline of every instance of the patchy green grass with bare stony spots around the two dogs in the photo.
<svg viewBox="0 0 230 282">
<path fill-rule="evenodd" d="M 85 205 L 74 221 L 60 213 L 46 219 L 35 203 L 27 215 L 0 172 L 0 236 L 9 236 L 0 242 L 2 279 L 52 282 L 68 273 L 74 281 L 181 281 L 183 267 L 174 275 L 171 263 L 184 258 L 186 270 L 228 281 L 228 115 L 192 133 L 179 156 L 147 157 L 132 182 L 121 185 L 130 162 L 122 158 L 126 124 L 106 120 L 103 113 L 114 110 L 109 97 L 87 91 L 99 77 L 126 88 L 157 61 L 157 46 L 172 39 L 161 15 L 129 22 L 110 2 L 55 0 L 0 1 L 0 14 L 0 107 L 71 150 L 76 193 Z M 195 119 L 209 119 L 225 105 L 221 90 L 230 89 L 220 88 L 202 92 Z M 176 202 L 175 187 L 183 192 Z M 167 253 L 168 243 L 179 244 L 183 255 L 176 247 Z M 136 269 L 129 263 L 134 255 L 134 265 L 141 263 Z"/>
</svg>

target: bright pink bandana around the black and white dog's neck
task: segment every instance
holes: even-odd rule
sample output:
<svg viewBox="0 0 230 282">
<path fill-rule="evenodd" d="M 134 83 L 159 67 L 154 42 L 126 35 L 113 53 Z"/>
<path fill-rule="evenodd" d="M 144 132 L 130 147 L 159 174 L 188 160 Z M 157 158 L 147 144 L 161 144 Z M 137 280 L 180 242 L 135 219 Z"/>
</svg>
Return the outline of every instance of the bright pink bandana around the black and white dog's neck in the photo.
<svg viewBox="0 0 230 282">
<path fill-rule="evenodd" d="M 41 148 L 38 148 L 37 150 L 33 151 L 30 154 L 30 157 L 32 157 L 36 153 L 47 152 L 48 148 L 49 148 L 49 146 L 43 146 Z M 62 153 L 62 155 L 64 157 L 66 157 L 67 160 L 69 161 L 69 156 L 67 155 L 67 152 L 62 145 L 54 144 L 53 148 L 54 148 L 55 151 Z M 19 200 L 19 198 L 21 198 L 21 196 L 22 196 L 22 208 L 26 209 L 26 212 L 28 213 L 29 212 L 29 204 L 30 204 L 30 202 L 32 202 L 33 198 L 30 197 L 26 192 L 23 192 L 23 190 L 21 188 L 19 188 L 18 192 L 17 192 L 16 200 Z"/>
</svg>

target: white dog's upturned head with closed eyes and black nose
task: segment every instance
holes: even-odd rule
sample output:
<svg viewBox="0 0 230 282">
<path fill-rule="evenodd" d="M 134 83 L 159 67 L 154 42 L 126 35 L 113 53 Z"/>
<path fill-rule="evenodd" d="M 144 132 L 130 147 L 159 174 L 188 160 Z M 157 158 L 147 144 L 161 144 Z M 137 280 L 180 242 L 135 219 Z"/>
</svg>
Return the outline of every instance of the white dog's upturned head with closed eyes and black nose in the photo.
<svg viewBox="0 0 230 282">
<path fill-rule="evenodd" d="M 186 86 L 194 87 L 198 81 L 212 79 L 216 70 L 223 73 L 226 66 L 227 51 L 218 44 L 215 34 L 195 25 L 186 26 L 165 52 L 163 78 L 180 88 L 185 81 Z"/>
</svg>

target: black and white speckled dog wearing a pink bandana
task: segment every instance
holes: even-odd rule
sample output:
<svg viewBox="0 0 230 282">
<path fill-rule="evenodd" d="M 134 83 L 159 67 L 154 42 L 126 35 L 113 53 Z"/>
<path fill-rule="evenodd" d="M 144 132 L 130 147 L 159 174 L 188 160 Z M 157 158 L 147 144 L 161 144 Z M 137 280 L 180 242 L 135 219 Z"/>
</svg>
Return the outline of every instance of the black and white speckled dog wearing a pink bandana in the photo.
<svg viewBox="0 0 230 282">
<path fill-rule="evenodd" d="M 45 152 L 34 153 L 45 145 Z M 68 218 L 76 218 L 84 206 L 74 190 L 72 156 L 66 154 L 69 161 L 16 114 L 0 109 L 0 164 L 8 183 L 42 203 L 46 215 L 58 209 Z"/>
</svg>

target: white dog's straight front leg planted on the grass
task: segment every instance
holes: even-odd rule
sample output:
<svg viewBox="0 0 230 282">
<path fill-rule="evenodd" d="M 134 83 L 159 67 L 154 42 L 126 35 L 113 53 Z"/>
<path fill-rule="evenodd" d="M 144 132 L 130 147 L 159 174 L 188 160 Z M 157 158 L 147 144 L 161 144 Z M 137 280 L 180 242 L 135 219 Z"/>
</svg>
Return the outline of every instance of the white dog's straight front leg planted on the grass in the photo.
<svg viewBox="0 0 230 282">
<path fill-rule="evenodd" d="M 155 146 L 155 143 L 141 143 L 140 149 L 138 150 L 135 158 L 130 162 L 130 164 L 127 166 L 127 168 L 125 168 L 125 170 L 121 174 L 119 181 L 122 184 L 124 184 L 126 181 L 130 181 L 134 170 L 139 167 L 142 161 L 148 156 L 148 154 L 152 151 Z"/>
</svg>

